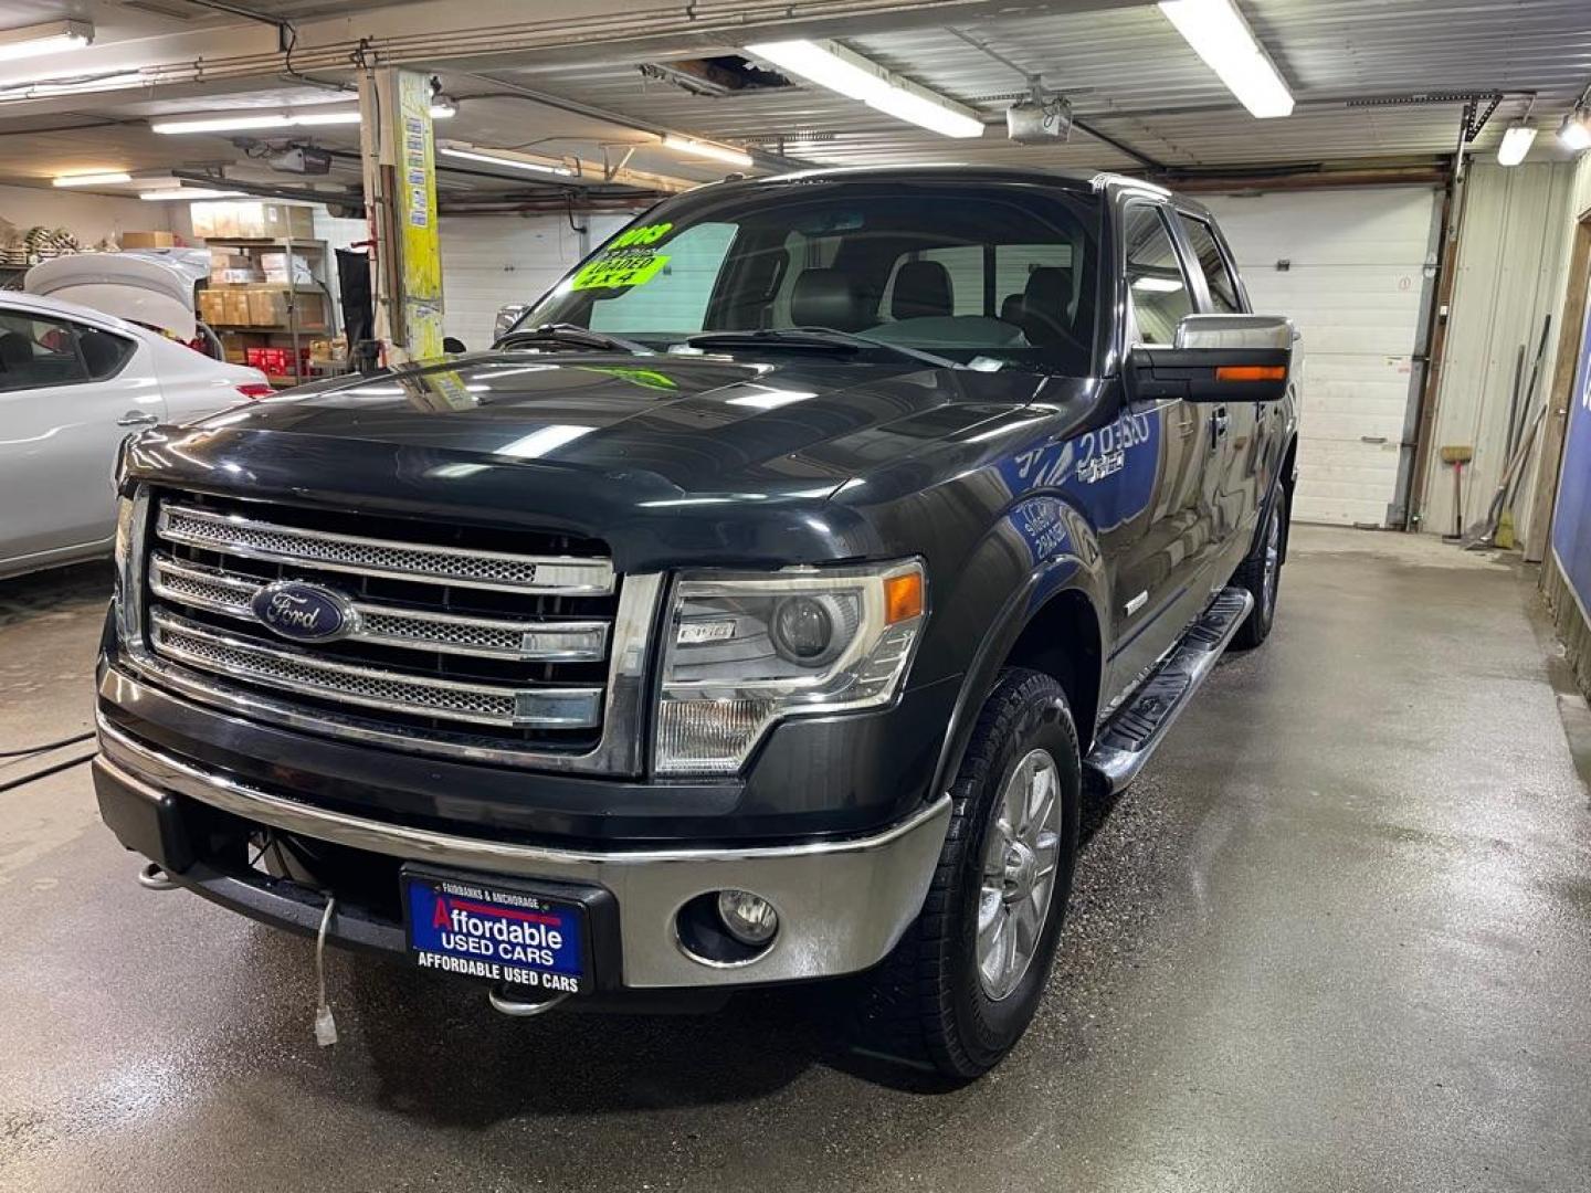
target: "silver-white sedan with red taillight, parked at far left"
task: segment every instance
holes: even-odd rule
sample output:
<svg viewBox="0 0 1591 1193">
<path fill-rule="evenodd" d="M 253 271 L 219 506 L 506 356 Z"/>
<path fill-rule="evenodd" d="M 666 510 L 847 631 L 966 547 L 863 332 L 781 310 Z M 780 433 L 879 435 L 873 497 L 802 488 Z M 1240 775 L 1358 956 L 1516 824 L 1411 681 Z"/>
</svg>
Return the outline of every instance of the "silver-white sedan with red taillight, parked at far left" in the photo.
<svg viewBox="0 0 1591 1193">
<path fill-rule="evenodd" d="M 110 554 L 121 441 L 270 393 L 113 315 L 0 293 L 0 577 Z"/>
</svg>

